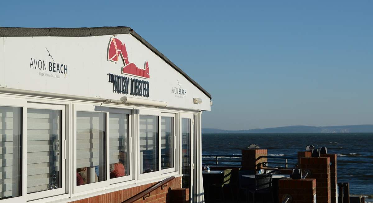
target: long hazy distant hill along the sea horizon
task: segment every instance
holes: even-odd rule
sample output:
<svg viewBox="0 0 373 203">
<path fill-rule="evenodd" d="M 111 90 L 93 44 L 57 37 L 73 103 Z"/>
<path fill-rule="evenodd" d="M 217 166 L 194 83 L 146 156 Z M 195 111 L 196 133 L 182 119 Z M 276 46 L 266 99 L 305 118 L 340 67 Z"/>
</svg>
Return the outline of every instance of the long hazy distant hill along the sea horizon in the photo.
<svg viewBox="0 0 373 203">
<path fill-rule="evenodd" d="M 202 133 L 348 133 L 373 132 L 373 125 L 344 125 L 344 126 L 285 126 L 278 128 L 258 128 L 251 130 L 229 131 L 216 128 L 202 128 Z"/>
</svg>

